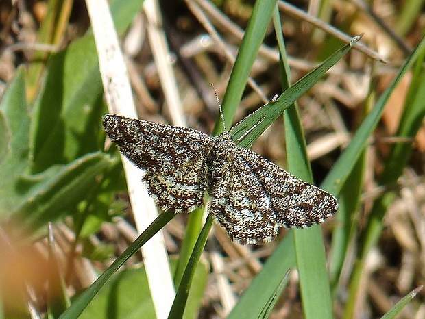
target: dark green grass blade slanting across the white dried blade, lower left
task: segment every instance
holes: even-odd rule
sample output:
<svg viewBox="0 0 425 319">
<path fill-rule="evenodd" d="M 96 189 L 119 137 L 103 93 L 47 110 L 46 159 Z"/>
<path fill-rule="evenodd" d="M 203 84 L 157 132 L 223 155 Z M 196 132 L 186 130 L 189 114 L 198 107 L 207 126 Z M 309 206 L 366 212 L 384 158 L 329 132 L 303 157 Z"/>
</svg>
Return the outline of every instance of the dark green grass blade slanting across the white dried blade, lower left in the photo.
<svg viewBox="0 0 425 319">
<path fill-rule="evenodd" d="M 171 211 L 163 212 L 154 220 L 154 222 L 149 225 L 149 227 L 138 236 L 134 242 L 128 246 L 127 249 L 117 258 L 115 261 L 106 269 L 96 281 L 90 285 L 85 292 L 83 292 L 72 304 L 71 306 L 64 311 L 64 313 L 59 317 L 61 319 L 74 319 L 80 316 L 82 311 L 87 307 L 88 303 L 95 298 L 97 292 L 100 288 L 108 281 L 109 277 L 121 267 L 127 259 L 132 257 L 138 249 L 141 248 L 153 235 L 158 233 L 162 227 L 167 225 L 175 214 Z"/>
</svg>

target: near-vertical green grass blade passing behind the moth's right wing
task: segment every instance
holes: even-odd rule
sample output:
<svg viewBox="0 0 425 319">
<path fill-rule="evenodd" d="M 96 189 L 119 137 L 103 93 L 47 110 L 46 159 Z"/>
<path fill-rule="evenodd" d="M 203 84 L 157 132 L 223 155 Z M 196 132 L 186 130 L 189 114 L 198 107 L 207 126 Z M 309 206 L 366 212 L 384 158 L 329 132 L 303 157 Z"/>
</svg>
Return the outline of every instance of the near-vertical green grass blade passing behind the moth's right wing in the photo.
<svg viewBox="0 0 425 319">
<path fill-rule="evenodd" d="M 280 25 L 279 23 L 279 27 Z M 282 32 L 278 32 L 279 38 L 282 85 L 288 91 L 291 90 L 291 73 Z M 283 118 L 289 172 L 312 183 L 313 177 L 306 152 L 306 141 L 301 120 L 298 116 L 298 106 L 295 101 L 284 112 Z M 293 238 L 297 268 L 300 275 L 303 316 L 304 318 L 332 318 L 332 300 L 321 228 L 315 226 L 309 229 L 294 229 Z M 315 262 L 312 263 L 311 260 Z M 318 294 L 317 292 L 320 293 Z"/>
</svg>

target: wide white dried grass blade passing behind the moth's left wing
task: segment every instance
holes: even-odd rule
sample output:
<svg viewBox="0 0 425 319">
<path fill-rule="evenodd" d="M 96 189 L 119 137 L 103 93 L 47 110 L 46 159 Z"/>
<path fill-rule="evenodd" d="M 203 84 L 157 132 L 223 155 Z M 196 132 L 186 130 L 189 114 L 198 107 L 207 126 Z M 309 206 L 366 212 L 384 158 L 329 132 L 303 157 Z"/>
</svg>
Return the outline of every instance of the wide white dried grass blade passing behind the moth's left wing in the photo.
<svg viewBox="0 0 425 319">
<path fill-rule="evenodd" d="M 108 108 L 110 112 L 136 118 L 132 90 L 127 68 L 119 47 L 117 33 L 107 1 L 87 0 L 97 53 L 99 68 Z M 141 170 L 123 158 L 127 186 L 136 227 L 141 233 L 158 216 L 153 199 L 141 183 Z M 169 269 L 167 251 L 161 233 L 155 235 L 142 247 L 142 254 L 157 318 L 167 318 L 175 296 Z"/>
</svg>

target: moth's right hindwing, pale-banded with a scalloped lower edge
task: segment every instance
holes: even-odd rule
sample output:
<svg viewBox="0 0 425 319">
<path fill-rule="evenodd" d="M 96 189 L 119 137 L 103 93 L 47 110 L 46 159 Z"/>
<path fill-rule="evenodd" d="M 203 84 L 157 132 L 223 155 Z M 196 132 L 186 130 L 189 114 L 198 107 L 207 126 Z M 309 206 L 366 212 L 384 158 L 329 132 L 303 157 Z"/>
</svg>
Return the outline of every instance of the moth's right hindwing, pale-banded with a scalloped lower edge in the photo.
<svg viewBox="0 0 425 319">
<path fill-rule="evenodd" d="M 268 194 L 250 163 L 234 152 L 237 147 L 230 136 L 217 139 L 208 160 L 209 211 L 239 244 L 271 241 L 278 233 L 278 223 Z"/>
</svg>

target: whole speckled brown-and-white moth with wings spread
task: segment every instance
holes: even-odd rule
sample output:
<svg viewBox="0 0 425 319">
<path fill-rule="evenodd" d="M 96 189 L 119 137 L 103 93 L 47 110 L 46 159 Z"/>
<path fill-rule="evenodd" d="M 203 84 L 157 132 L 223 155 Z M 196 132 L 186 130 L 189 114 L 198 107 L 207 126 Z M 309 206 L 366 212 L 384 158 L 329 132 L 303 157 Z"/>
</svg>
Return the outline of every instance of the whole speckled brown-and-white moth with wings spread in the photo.
<svg viewBox="0 0 425 319">
<path fill-rule="evenodd" d="M 209 212 L 240 244 L 273 240 L 279 227 L 309 227 L 332 216 L 334 196 L 234 144 L 228 133 L 106 115 L 104 128 L 125 157 L 147 171 L 161 209 L 191 212 L 210 195 Z"/>
</svg>

